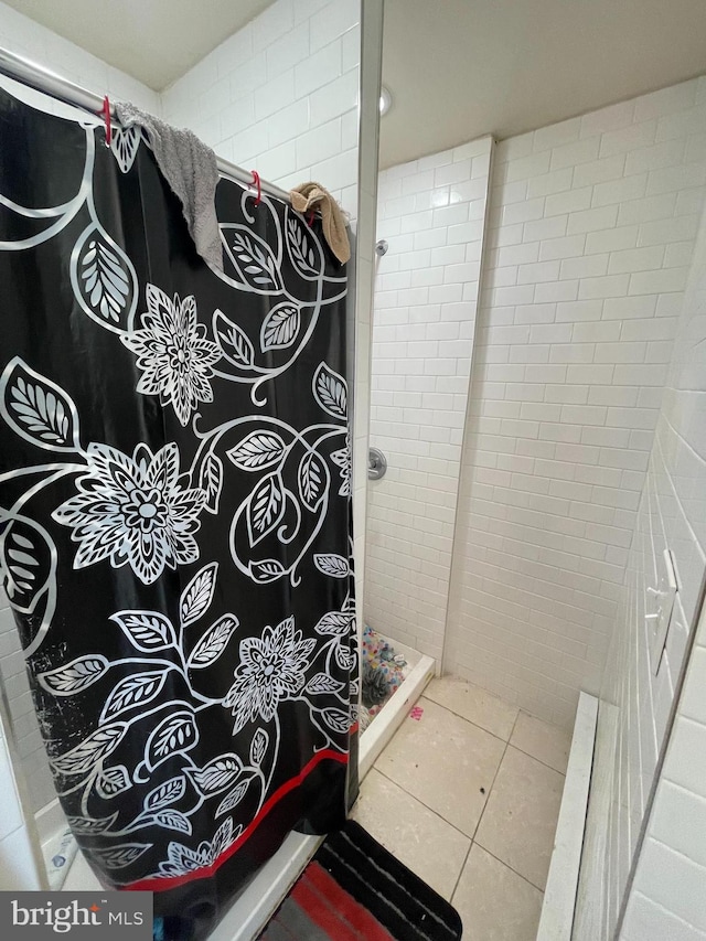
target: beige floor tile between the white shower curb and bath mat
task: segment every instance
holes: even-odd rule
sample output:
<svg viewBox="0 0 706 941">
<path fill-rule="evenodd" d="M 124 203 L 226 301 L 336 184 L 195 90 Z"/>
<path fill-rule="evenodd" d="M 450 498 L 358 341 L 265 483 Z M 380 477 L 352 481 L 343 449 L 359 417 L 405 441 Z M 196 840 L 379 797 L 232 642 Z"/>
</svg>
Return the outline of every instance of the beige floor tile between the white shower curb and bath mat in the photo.
<svg viewBox="0 0 706 941">
<path fill-rule="evenodd" d="M 352 813 L 371 836 L 449 900 L 471 841 L 373 769 Z"/>
</svg>

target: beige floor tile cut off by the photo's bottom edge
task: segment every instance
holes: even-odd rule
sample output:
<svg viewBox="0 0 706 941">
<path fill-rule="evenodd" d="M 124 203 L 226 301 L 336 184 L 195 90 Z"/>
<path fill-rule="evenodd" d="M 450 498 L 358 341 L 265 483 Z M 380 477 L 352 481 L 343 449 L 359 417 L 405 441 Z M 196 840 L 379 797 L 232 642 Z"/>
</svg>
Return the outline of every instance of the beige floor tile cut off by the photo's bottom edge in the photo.
<svg viewBox="0 0 706 941">
<path fill-rule="evenodd" d="M 542 897 L 474 843 L 452 900 L 463 921 L 463 941 L 535 941 Z"/>
</svg>

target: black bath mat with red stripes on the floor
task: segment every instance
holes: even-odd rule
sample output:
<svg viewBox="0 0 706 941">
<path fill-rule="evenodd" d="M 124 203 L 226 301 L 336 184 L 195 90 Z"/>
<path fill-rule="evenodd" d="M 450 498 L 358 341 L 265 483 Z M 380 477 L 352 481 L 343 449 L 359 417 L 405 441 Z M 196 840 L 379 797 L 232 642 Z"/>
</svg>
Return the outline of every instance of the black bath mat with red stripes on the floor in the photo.
<svg viewBox="0 0 706 941">
<path fill-rule="evenodd" d="M 258 941 L 459 941 L 448 901 L 354 821 L 332 833 Z"/>
</svg>

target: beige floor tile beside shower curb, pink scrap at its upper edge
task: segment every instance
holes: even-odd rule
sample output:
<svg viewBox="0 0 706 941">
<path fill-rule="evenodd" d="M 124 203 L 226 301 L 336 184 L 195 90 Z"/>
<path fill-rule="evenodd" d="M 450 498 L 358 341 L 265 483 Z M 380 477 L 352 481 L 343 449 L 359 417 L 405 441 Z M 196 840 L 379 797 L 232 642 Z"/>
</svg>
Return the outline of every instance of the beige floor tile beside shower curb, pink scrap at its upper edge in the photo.
<svg viewBox="0 0 706 941">
<path fill-rule="evenodd" d="M 405 719 L 375 767 L 473 836 L 505 742 L 431 699 L 422 697 L 417 705 L 421 718 Z"/>
</svg>

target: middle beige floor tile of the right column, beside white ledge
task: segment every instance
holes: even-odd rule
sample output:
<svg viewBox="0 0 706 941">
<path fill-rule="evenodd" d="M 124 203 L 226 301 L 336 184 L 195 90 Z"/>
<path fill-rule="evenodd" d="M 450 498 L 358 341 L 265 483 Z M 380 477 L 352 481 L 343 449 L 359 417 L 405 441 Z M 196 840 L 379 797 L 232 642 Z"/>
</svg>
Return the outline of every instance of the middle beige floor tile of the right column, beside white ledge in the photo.
<svg viewBox="0 0 706 941">
<path fill-rule="evenodd" d="M 564 776 L 507 746 L 475 841 L 544 890 Z"/>
</svg>

